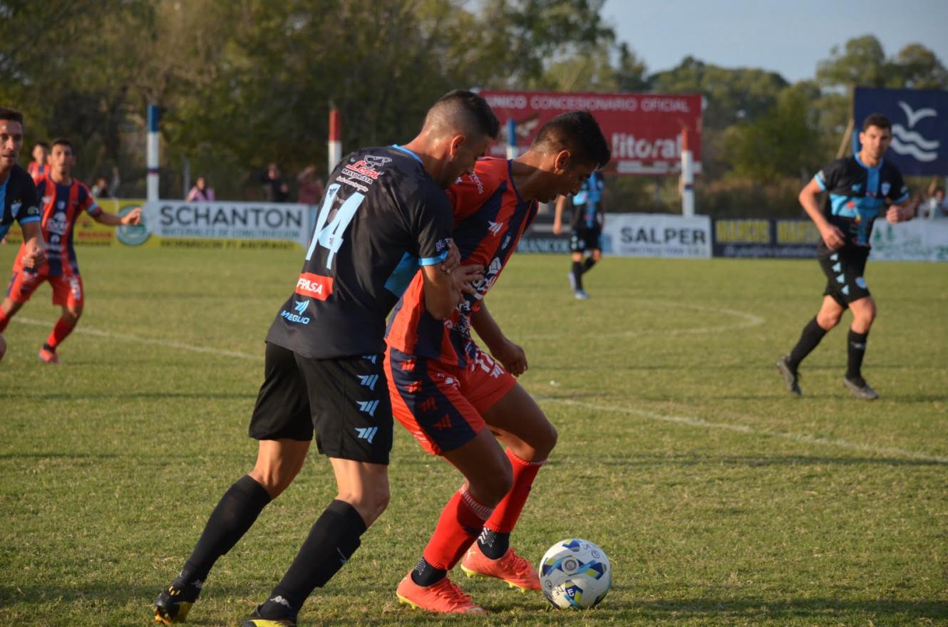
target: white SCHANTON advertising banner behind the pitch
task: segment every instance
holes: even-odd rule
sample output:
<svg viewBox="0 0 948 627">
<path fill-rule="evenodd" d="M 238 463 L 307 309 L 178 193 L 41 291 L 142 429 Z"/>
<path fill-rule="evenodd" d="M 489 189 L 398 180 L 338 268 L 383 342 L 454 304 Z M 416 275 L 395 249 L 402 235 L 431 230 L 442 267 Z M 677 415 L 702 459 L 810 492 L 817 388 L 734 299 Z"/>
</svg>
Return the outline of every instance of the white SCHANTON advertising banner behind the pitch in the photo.
<svg viewBox="0 0 948 627">
<path fill-rule="evenodd" d="M 144 206 L 139 243 L 186 248 L 305 248 L 310 207 L 285 203 L 188 203 Z M 135 245 L 133 242 L 125 242 Z"/>
</svg>

